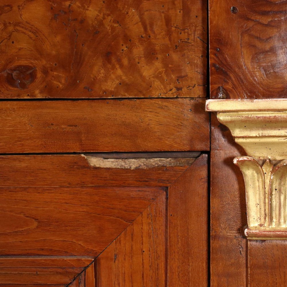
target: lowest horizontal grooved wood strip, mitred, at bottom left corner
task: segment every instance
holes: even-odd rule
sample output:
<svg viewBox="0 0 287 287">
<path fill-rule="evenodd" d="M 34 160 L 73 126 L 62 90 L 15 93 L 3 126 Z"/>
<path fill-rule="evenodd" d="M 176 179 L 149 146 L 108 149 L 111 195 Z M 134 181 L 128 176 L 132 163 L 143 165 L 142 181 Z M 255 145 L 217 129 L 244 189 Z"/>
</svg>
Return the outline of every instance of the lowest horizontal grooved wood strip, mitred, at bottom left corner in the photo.
<svg viewBox="0 0 287 287">
<path fill-rule="evenodd" d="M 66 286 L 88 266 L 88 258 L 0 258 L 0 286 Z"/>
</svg>

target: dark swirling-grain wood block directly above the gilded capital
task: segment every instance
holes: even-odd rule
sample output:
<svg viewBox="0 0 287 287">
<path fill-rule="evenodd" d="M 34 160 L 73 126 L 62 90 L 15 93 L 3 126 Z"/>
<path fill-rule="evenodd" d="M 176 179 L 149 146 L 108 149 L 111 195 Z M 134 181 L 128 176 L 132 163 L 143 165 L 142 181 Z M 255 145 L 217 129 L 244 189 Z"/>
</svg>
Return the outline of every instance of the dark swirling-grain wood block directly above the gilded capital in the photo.
<svg viewBox="0 0 287 287">
<path fill-rule="evenodd" d="M 286 1 L 210 1 L 212 98 L 284 98 Z"/>
</svg>

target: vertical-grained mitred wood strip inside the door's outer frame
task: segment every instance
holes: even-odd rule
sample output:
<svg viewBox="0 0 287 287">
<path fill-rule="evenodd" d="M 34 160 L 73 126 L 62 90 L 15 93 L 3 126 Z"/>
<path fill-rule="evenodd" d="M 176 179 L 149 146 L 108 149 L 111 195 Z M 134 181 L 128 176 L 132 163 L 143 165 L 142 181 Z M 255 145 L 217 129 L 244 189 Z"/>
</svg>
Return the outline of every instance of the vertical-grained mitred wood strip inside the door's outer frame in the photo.
<svg viewBox="0 0 287 287">
<path fill-rule="evenodd" d="M 96 286 L 166 286 L 165 242 L 162 194 L 97 257 Z"/>
</svg>

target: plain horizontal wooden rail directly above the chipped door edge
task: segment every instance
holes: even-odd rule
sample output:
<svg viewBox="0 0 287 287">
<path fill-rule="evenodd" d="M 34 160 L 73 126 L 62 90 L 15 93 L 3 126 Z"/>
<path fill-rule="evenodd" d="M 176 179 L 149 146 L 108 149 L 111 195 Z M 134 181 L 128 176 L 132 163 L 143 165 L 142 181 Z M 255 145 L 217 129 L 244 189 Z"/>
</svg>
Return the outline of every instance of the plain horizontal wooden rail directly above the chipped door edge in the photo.
<svg viewBox="0 0 287 287">
<path fill-rule="evenodd" d="M 0 153 L 209 149 L 203 99 L 2 102 Z"/>
</svg>

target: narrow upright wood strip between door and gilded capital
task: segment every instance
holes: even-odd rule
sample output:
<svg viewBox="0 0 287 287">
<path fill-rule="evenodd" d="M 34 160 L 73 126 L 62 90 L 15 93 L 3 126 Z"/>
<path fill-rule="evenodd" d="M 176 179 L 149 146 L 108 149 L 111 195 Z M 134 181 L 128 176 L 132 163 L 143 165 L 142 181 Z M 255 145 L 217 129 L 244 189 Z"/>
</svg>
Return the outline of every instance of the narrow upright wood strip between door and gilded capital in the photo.
<svg viewBox="0 0 287 287">
<path fill-rule="evenodd" d="M 210 276 L 212 287 L 246 286 L 245 185 L 233 158 L 243 155 L 212 115 Z"/>
</svg>

